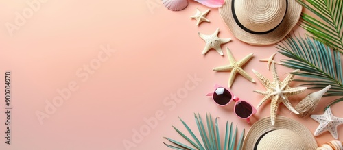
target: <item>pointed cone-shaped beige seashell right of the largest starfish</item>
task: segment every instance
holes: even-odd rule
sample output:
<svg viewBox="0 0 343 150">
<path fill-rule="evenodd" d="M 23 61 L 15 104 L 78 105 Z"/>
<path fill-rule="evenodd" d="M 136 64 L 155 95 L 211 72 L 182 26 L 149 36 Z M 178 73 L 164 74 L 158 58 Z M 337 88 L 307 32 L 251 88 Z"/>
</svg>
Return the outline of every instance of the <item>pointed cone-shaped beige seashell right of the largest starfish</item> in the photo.
<svg viewBox="0 0 343 150">
<path fill-rule="evenodd" d="M 299 116 L 305 117 L 307 114 L 313 112 L 314 109 L 316 109 L 318 102 L 322 99 L 322 96 L 327 92 L 327 90 L 329 90 L 329 88 L 331 88 L 331 85 L 328 85 L 317 92 L 312 92 L 301 100 L 295 107 L 296 111 L 299 112 Z"/>
</svg>

